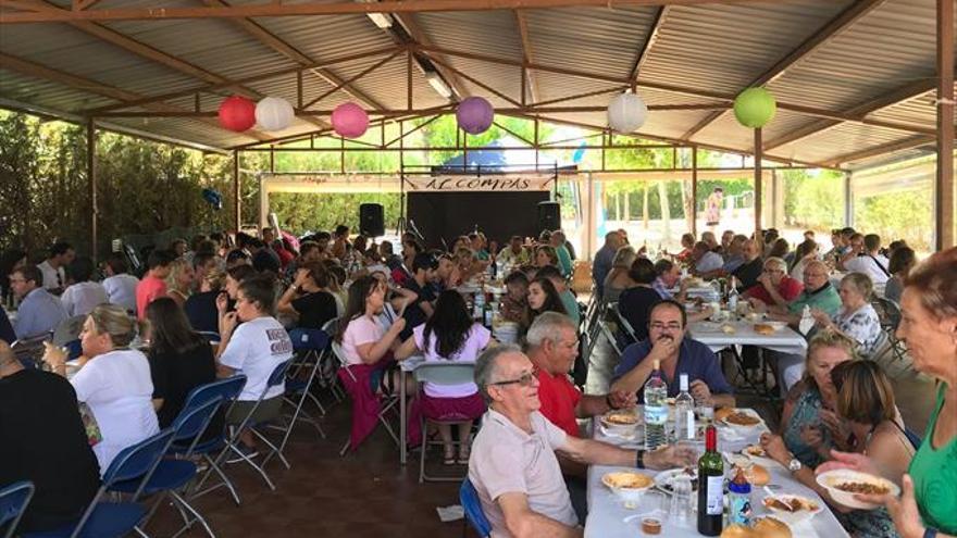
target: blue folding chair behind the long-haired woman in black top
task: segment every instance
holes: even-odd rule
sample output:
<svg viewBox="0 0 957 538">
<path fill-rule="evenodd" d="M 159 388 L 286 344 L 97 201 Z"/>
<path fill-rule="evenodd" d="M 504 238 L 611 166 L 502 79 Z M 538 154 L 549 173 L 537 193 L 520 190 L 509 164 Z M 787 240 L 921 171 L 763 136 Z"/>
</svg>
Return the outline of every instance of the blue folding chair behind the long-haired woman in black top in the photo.
<svg viewBox="0 0 957 538">
<path fill-rule="evenodd" d="M 210 401 L 220 401 L 221 408 L 226 413 L 228 413 L 228 410 L 236 401 L 236 397 L 239 396 L 239 392 L 243 391 L 243 387 L 245 386 L 246 376 L 240 374 L 234 375 L 233 377 L 226 379 L 220 379 L 217 381 L 196 387 L 189 392 L 189 396 L 186 397 L 186 403 L 183 405 L 183 409 L 189 409 L 194 405 L 198 406 Z M 229 490 L 229 493 L 233 496 L 233 500 L 236 502 L 236 505 L 239 505 L 239 493 L 236 492 L 236 488 L 233 486 L 233 483 L 229 480 L 229 478 L 226 476 L 226 473 L 224 473 L 223 468 L 220 466 L 219 454 L 226 449 L 226 442 L 227 437 L 224 435 L 223 431 L 220 431 L 215 437 L 208 440 L 200 440 L 197 437 L 195 442 L 181 445 L 174 441 L 170 447 L 170 453 L 177 455 L 199 454 L 209 465 L 209 470 L 207 470 L 206 474 L 202 476 L 202 478 L 200 478 L 199 483 L 189 492 L 190 499 L 195 499 L 214 489 L 225 486 Z M 216 458 L 214 459 L 210 454 L 216 454 Z M 200 490 L 200 488 L 202 488 L 202 485 L 206 484 L 206 480 L 213 473 L 215 473 L 216 476 L 220 477 L 220 484 L 211 486 L 204 490 Z"/>
</svg>

